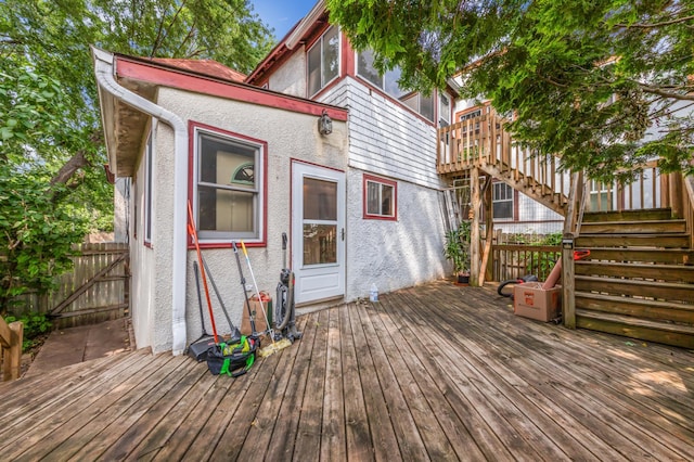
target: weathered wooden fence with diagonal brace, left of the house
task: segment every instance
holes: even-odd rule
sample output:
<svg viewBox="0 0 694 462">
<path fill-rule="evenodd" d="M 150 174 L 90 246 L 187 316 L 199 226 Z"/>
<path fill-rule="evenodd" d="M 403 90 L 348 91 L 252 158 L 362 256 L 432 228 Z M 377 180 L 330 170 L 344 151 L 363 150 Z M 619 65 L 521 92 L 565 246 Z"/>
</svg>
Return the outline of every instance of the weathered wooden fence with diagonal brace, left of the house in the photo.
<svg viewBox="0 0 694 462">
<path fill-rule="evenodd" d="M 47 295 L 24 294 L 12 300 L 12 311 L 44 312 L 55 317 L 56 328 L 94 324 L 128 316 L 128 244 L 81 244 L 72 272 L 59 277 Z"/>
</svg>

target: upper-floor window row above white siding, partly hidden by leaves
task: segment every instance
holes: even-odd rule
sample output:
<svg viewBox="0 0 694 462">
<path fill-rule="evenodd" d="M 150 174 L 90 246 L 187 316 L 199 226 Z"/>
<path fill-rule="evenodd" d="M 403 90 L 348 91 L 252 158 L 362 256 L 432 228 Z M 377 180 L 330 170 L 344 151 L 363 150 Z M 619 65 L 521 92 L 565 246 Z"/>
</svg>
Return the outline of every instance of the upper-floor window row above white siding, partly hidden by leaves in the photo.
<svg viewBox="0 0 694 462">
<path fill-rule="evenodd" d="M 398 84 L 401 75 L 400 67 L 387 70 L 382 75 L 378 69 L 376 69 L 374 60 L 372 50 L 359 52 L 357 54 L 357 75 L 369 81 L 374 87 L 385 91 L 396 100 L 399 100 L 415 113 L 433 121 L 435 102 L 434 93 L 429 97 L 424 97 L 421 93 L 411 92 L 407 89 L 400 88 Z"/>
</svg>

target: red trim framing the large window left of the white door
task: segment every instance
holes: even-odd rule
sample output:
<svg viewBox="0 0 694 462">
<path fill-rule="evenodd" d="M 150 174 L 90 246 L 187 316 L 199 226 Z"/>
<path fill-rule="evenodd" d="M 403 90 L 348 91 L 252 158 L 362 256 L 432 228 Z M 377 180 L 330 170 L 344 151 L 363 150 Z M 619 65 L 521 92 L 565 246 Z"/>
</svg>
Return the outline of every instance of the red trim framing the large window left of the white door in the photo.
<svg viewBox="0 0 694 462">
<path fill-rule="evenodd" d="M 190 120 L 188 123 L 188 200 L 193 204 L 193 185 L 195 182 L 195 178 L 193 178 L 194 172 L 194 163 L 195 163 L 195 130 L 203 129 L 205 131 L 209 131 L 213 133 L 219 133 L 224 137 L 235 138 L 237 140 L 249 141 L 254 144 L 258 144 L 262 146 L 262 204 L 261 204 L 261 214 L 262 214 L 262 236 L 260 241 L 245 243 L 246 247 L 266 247 L 268 245 L 268 142 L 264 140 L 258 140 L 257 138 L 252 138 L 242 133 L 236 133 L 234 131 L 224 130 L 223 128 L 213 127 L 210 125 L 202 124 L 198 121 Z M 197 223 L 195 223 L 197 226 Z M 195 245 L 193 244 L 193 240 L 189 233 L 187 238 L 188 248 L 194 249 Z M 205 243 L 204 240 L 201 240 L 200 248 L 231 248 L 231 241 L 229 243 L 223 242 L 214 242 L 214 243 Z"/>
</svg>

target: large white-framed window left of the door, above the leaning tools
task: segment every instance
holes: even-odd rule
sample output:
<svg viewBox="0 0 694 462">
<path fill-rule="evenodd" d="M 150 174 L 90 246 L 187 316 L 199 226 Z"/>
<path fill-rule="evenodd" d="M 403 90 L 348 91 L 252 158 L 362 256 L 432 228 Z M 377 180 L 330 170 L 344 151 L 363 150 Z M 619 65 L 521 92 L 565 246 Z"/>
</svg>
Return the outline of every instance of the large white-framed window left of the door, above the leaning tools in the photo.
<svg viewBox="0 0 694 462">
<path fill-rule="evenodd" d="M 201 241 L 264 242 L 266 144 L 201 128 L 195 133 L 193 197 Z"/>
</svg>

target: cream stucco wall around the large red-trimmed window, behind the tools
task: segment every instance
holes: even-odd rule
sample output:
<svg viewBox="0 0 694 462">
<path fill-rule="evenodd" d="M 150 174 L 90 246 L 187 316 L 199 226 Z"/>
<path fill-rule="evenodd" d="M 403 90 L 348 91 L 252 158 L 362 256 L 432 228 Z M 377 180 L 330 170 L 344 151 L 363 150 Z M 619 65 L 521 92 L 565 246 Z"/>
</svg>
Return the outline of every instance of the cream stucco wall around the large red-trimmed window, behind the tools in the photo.
<svg viewBox="0 0 694 462">
<path fill-rule="evenodd" d="M 268 291 L 274 298 L 274 292 L 282 269 L 281 233 L 290 232 L 290 188 L 292 158 L 303 159 L 317 165 L 345 171 L 347 169 L 347 127 L 343 121 L 333 121 L 333 133 L 321 137 L 317 130 L 318 117 L 277 110 L 236 101 L 222 100 L 175 89 L 162 88 L 157 104 L 178 114 L 188 124 L 190 120 L 216 127 L 241 136 L 262 140 L 268 143 L 268 209 L 267 247 L 248 247 L 253 270 L 261 291 Z M 154 214 L 155 223 L 152 253 L 154 255 L 149 275 L 142 278 L 139 288 L 152 294 L 152 305 L 146 305 L 143 296 L 133 300 L 133 317 L 146 318 L 149 311 L 150 344 L 153 350 L 164 351 L 171 348 L 171 265 L 172 265 L 172 217 L 174 217 L 174 132 L 159 124 L 155 138 L 155 184 Z M 187 185 L 181 185 L 187 188 Z M 145 253 L 145 251 L 143 251 Z M 244 295 L 241 278 L 231 248 L 205 249 L 204 258 L 229 310 L 232 322 L 240 326 Z M 187 268 L 187 334 L 188 342 L 200 337 L 202 325 L 198 315 L 197 294 L 193 273 L 194 251 L 189 252 Z M 288 258 L 288 256 L 287 256 Z M 241 255 L 243 273 L 252 282 L 245 258 Z M 144 256 L 138 262 L 147 264 Z M 134 267 L 133 266 L 133 270 Z M 226 317 L 215 296 L 211 284 L 210 297 L 215 307 L 215 320 L 219 334 L 230 333 Z M 140 301 L 145 303 L 140 306 Z M 211 326 L 207 319 L 207 306 L 203 295 L 207 331 Z M 140 336 L 145 342 L 146 335 Z"/>
</svg>

